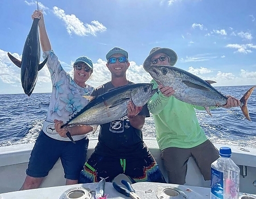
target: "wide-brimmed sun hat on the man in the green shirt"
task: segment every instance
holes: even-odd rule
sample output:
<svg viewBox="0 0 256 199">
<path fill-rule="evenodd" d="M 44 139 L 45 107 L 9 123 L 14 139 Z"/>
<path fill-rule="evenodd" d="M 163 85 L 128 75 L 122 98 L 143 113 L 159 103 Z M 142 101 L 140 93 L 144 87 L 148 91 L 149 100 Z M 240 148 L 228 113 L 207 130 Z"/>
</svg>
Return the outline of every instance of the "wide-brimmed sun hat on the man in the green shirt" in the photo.
<svg viewBox="0 0 256 199">
<path fill-rule="evenodd" d="M 177 54 L 170 48 L 159 48 L 156 51 L 152 52 L 150 55 L 147 56 L 146 60 L 143 63 L 143 68 L 147 71 L 147 68 L 151 65 L 151 58 L 152 56 L 158 53 L 165 53 L 168 57 L 170 57 L 170 65 L 173 66 L 177 62 Z"/>
</svg>

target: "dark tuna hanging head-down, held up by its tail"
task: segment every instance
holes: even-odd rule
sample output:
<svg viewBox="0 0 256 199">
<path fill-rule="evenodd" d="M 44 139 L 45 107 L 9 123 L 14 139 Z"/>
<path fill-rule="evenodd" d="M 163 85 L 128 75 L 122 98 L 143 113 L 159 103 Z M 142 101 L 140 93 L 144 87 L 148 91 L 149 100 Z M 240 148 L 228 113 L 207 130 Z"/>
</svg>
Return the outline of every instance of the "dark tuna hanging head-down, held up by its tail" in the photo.
<svg viewBox="0 0 256 199">
<path fill-rule="evenodd" d="M 22 82 L 22 88 L 24 93 L 28 96 L 33 92 L 36 80 L 38 79 L 38 71 L 40 71 L 48 57 L 43 61 L 42 64 L 39 64 L 40 61 L 40 43 L 38 35 L 38 22 L 39 19 L 34 19 L 30 32 L 27 36 L 26 42 L 24 44 L 22 52 L 22 60 L 16 59 L 9 52 L 7 55 L 10 60 L 20 68 L 20 79 Z"/>
</svg>

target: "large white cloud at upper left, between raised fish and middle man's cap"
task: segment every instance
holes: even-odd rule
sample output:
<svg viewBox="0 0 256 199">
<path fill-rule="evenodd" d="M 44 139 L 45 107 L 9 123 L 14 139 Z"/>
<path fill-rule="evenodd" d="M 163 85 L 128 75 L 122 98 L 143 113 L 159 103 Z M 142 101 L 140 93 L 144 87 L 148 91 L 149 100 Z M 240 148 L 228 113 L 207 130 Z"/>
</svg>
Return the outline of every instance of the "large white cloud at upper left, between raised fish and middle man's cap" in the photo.
<svg viewBox="0 0 256 199">
<path fill-rule="evenodd" d="M 93 20 L 91 24 L 84 24 L 76 17 L 76 15 L 67 15 L 64 10 L 59 9 L 56 6 L 53 7 L 53 13 L 64 21 L 69 35 L 76 34 L 79 36 L 86 36 L 90 34 L 95 36 L 98 32 L 104 32 L 106 30 L 106 27 L 96 20 Z"/>
</svg>

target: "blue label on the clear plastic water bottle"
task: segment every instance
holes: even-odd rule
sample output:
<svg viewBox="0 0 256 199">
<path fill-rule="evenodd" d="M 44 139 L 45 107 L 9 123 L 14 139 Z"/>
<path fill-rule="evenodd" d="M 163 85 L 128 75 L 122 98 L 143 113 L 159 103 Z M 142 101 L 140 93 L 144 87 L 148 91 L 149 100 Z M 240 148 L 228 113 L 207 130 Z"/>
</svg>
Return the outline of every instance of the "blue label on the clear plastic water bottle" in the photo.
<svg viewBox="0 0 256 199">
<path fill-rule="evenodd" d="M 210 198 L 223 199 L 223 173 L 211 168 Z"/>
</svg>

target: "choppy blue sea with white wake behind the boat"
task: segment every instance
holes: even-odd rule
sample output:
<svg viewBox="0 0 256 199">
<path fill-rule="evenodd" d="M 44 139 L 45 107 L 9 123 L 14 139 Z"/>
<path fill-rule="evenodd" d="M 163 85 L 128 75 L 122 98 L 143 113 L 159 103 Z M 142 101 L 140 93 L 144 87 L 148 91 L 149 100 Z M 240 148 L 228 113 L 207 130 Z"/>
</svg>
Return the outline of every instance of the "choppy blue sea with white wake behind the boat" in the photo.
<svg viewBox="0 0 256 199">
<path fill-rule="evenodd" d="M 251 86 L 216 87 L 224 95 L 240 99 Z M 10 91 L 11 92 L 11 91 Z M 0 95 L 0 147 L 34 143 L 46 118 L 51 93 L 1 94 Z M 256 147 L 256 90 L 247 102 L 251 122 L 243 116 L 240 107 L 197 111 L 197 118 L 205 134 L 213 143 L 240 147 Z M 171 117 L 171 115 L 170 115 Z M 89 133 L 89 138 L 97 138 Z M 154 119 L 146 118 L 143 136 L 155 138 Z"/>
</svg>

